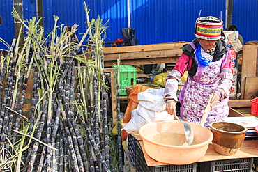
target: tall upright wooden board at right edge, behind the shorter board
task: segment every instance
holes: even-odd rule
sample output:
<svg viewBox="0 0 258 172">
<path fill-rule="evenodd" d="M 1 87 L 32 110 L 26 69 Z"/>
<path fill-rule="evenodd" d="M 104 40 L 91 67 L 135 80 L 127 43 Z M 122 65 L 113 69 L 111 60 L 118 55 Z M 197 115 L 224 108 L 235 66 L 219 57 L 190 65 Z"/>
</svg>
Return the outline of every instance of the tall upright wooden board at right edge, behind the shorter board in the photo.
<svg viewBox="0 0 258 172">
<path fill-rule="evenodd" d="M 245 99 L 245 79 L 256 76 L 258 41 L 247 42 L 243 46 L 243 59 L 241 69 L 241 99 Z"/>
</svg>

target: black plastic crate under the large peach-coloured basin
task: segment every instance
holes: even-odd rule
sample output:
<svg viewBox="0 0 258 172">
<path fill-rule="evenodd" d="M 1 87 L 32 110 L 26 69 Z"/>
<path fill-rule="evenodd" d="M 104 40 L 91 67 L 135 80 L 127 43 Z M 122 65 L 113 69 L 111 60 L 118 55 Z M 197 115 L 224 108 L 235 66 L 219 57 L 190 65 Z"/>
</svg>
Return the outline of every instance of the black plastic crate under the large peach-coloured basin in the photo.
<svg viewBox="0 0 258 172">
<path fill-rule="evenodd" d="M 197 163 L 187 165 L 147 166 L 139 141 L 136 142 L 135 170 L 137 172 L 196 172 Z M 172 155 L 173 156 L 173 155 Z"/>
</svg>

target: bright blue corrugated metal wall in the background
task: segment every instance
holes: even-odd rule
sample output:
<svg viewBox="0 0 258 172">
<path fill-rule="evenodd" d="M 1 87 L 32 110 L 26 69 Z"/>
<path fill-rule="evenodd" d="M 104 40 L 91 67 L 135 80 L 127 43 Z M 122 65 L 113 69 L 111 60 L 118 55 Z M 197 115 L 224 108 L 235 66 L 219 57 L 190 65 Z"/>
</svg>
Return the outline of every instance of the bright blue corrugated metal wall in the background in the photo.
<svg viewBox="0 0 258 172">
<path fill-rule="evenodd" d="M 10 41 L 15 36 L 13 17 L 11 16 L 12 1 L 1 0 L 0 15 L 3 25 L 0 36 Z M 23 0 L 24 19 L 36 16 L 36 1 Z M 45 31 L 53 29 L 53 15 L 59 17 L 59 25 L 79 24 L 77 35 L 86 31 L 86 15 L 82 0 L 44 0 Z M 123 38 L 121 30 L 128 27 L 127 0 L 86 0 L 91 9 L 90 17 L 100 15 L 103 24 L 107 21 L 107 38 L 111 42 Z M 140 45 L 163 42 L 191 41 L 194 36 L 195 19 L 202 10 L 201 16 L 214 15 L 225 22 L 225 0 L 130 0 L 130 26 L 136 30 Z M 232 24 L 245 42 L 258 40 L 257 0 L 234 1 Z M 5 49 L 0 43 L 0 49 Z"/>
</svg>

